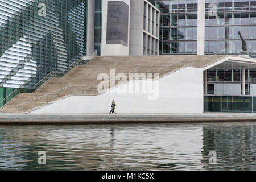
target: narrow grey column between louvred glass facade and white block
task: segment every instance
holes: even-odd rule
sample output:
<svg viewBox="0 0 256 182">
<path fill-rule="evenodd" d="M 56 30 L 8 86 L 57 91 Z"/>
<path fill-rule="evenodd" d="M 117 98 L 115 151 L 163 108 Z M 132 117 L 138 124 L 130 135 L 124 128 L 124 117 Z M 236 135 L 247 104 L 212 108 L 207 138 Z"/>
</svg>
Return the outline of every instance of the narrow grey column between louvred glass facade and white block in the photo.
<svg viewBox="0 0 256 182">
<path fill-rule="evenodd" d="M 88 52 L 94 51 L 94 11 L 95 11 L 95 0 L 87 1 L 86 49 Z"/>
</svg>

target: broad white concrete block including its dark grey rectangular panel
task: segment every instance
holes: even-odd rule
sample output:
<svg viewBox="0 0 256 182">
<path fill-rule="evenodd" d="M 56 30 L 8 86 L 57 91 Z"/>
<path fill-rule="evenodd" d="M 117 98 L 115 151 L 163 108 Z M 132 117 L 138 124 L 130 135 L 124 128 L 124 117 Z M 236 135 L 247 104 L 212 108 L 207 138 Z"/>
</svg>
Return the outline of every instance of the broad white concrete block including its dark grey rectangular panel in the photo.
<svg viewBox="0 0 256 182">
<path fill-rule="evenodd" d="M 129 51 L 130 0 L 102 1 L 101 56 L 128 56 Z"/>
</svg>

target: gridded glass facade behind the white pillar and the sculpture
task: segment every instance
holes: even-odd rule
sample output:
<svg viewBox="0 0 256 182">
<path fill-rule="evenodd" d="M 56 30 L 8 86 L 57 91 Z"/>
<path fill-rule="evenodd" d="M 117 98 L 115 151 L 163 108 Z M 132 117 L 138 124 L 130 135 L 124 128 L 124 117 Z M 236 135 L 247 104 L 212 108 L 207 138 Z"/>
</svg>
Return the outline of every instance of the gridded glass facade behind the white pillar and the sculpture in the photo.
<svg viewBox="0 0 256 182">
<path fill-rule="evenodd" d="M 160 10 L 160 54 L 196 54 L 197 0 L 150 2 Z M 239 54 L 241 31 L 255 56 L 256 0 L 205 0 L 205 12 L 205 54 Z"/>
</svg>

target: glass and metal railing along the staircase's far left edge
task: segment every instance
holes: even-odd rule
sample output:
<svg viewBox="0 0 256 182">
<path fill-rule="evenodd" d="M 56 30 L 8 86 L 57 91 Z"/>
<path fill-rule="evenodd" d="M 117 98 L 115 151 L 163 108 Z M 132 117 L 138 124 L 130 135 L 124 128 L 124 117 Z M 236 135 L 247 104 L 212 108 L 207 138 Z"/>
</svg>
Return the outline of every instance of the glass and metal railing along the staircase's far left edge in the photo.
<svg viewBox="0 0 256 182">
<path fill-rule="evenodd" d="M 88 56 L 86 58 L 86 56 Z M 80 57 L 79 59 L 73 61 L 72 64 L 70 64 L 67 68 L 65 68 L 63 71 L 61 70 L 53 70 L 52 72 L 50 72 L 47 76 L 45 76 L 44 78 L 42 78 L 42 80 L 40 80 L 39 82 L 37 82 L 34 86 L 32 86 L 35 90 L 38 89 L 40 86 L 42 86 L 47 80 L 49 80 L 49 78 L 52 77 L 63 77 L 66 73 L 68 73 L 69 71 L 71 71 L 71 69 L 73 67 L 75 67 L 76 65 L 80 65 L 80 64 L 86 64 L 86 62 L 88 62 L 89 60 L 93 59 L 93 57 L 97 56 L 97 51 L 86 51 L 85 55 Z M 83 61 L 85 63 L 83 63 Z M 8 96 L 6 96 L 5 98 L 3 98 L 0 101 L 0 105 L 6 105 L 9 101 L 11 101 L 15 96 L 17 96 L 18 94 L 15 94 L 19 89 L 23 89 L 27 84 L 21 85 L 19 86 L 19 88 L 15 89 L 12 93 L 10 93 Z M 31 86 L 31 85 L 29 85 Z M 15 96 L 14 96 L 15 95 Z M 2 106 L 1 106 L 2 107 Z"/>
</svg>

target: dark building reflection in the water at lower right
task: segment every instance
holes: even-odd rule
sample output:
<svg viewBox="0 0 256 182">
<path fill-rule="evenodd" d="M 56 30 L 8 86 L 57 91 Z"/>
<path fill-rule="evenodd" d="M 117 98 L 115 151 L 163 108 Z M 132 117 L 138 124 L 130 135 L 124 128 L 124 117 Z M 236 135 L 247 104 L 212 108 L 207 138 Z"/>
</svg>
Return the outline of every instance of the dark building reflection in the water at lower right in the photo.
<svg viewBox="0 0 256 182">
<path fill-rule="evenodd" d="M 203 127 L 204 169 L 250 170 L 256 169 L 256 124 L 218 123 Z M 217 152 L 217 165 L 207 163 L 209 151 Z"/>
</svg>

